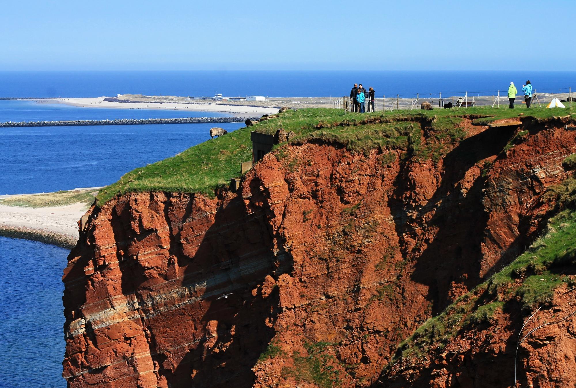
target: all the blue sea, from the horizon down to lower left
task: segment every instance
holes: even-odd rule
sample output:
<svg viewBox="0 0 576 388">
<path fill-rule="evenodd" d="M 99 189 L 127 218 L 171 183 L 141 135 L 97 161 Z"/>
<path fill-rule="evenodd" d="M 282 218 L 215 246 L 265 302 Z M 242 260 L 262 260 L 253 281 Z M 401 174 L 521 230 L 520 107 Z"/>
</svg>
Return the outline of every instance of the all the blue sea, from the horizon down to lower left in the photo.
<svg viewBox="0 0 576 388">
<path fill-rule="evenodd" d="M 279 97 L 346 96 L 354 82 L 378 95 L 505 90 L 530 79 L 567 92 L 576 71 L 0 71 L 0 97 L 99 97 L 118 93 Z M 219 113 L 78 108 L 0 100 L 0 121 L 219 116 Z M 209 139 L 211 124 L 0 128 L 0 195 L 103 186 L 146 163 Z M 242 123 L 219 124 L 233 131 Z M 63 388 L 61 277 L 65 249 L 0 237 L 0 386 Z"/>
</svg>

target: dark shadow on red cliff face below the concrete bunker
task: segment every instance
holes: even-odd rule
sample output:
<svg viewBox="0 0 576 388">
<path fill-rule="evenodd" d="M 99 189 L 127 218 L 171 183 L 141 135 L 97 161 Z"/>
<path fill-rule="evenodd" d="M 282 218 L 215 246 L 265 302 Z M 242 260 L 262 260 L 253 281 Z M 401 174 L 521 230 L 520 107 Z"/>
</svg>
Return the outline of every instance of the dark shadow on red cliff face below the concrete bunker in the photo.
<svg viewBox="0 0 576 388">
<path fill-rule="evenodd" d="M 257 179 L 251 182 L 254 197 L 262 196 L 258 185 Z M 275 334 L 272 324 L 279 313 L 278 288 L 264 298 L 260 285 L 267 275 L 277 277 L 292 268 L 289 254 L 272 254 L 278 236 L 267 219 L 266 200 L 256 202 L 263 205 L 253 206 L 252 214 L 247 214 L 241 196 L 219 207 L 189 259 L 183 287 L 209 279 L 202 283 L 204 299 L 199 302 L 207 310 L 193 318 L 196 330 L 206 335 L 189 345 L 173 372 L 160 370 L 170 387 L 248 388 L 255 381 L 252 368 Z"/>
</svg>

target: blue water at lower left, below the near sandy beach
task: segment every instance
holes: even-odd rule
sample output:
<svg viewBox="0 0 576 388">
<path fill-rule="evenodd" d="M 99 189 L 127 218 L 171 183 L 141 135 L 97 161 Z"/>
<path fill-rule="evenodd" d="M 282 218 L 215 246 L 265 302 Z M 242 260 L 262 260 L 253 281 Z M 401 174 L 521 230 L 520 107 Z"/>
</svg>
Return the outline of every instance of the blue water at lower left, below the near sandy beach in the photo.
<svg viewBox="0 0 576 388">
<path fill-rule="evenodd" d="M 0 387 L 60 388 L 66 249 L 0 237 Z"/>
</svg>

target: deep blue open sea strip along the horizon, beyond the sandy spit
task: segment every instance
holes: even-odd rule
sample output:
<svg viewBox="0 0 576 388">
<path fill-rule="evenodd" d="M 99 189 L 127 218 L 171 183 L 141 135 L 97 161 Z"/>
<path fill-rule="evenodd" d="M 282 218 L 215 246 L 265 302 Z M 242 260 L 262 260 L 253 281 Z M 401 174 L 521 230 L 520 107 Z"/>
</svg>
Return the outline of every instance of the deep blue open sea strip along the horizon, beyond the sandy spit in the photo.
<svg viewBox="0 0 576 388">
<path fill-rule="evenodd" d="M 540 92 L 576 89 L 576 71 L 0 71 L 0 97 L 346 96 L 354 82 L 382 94 L 493 92 L 529 79 Z M 562 90 L 560 90 L 562 89 Z M 565 89 L 565 90 L 564 90 Z M 487 94 L 490 95 L 490 94 Z"/>
</svg>

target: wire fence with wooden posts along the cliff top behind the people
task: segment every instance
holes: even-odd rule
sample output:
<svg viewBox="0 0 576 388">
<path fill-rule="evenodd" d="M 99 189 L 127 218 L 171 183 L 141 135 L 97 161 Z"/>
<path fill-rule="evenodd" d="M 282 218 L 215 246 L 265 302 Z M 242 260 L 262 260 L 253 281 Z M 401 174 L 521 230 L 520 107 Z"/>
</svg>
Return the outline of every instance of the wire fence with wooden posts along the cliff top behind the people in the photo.
<svg viewBox="0 0 576 388">
<path fill-rule="evenodd" d="M 565 99 L 569 106 L 572 106 L 572 88 L 541 88 L 532 90 L 532 104 L 542 106 L 547 104 L 548 98 L 562 98 Z M 546 102 L 540 101 L 545 99 Z M 516 96 L 516 104 L 525 104 L 524 92 L 518 88 Z M 576 101 L 576 98 L 574 98 Z M 366 105 L 368 104 L 366 100 Z M 378 111 L 395 111 L 400 109 L 434 109 L 445 107 L 463 107 L 468 108 L 472 106 L 487 106 L 492 108 L 500 108 L 500 105 L 509 105 L 509 99 L 506 90 L 488 90 L 488 91 L 473 91 L 473 92 L 438 92 L 438 93 L 404 93 L 404 94 L 383 94 L 382 97 L 375 98 L 375 105 Z M 427 102 L 427 104 L 424 104 Z M 347 112 L 357 111 L 357 104 L 354 103 L 350 97 L 336 98 L 333 101 L 334 108 L 344 109 Z"/>
</svg>

